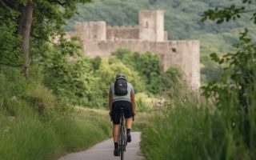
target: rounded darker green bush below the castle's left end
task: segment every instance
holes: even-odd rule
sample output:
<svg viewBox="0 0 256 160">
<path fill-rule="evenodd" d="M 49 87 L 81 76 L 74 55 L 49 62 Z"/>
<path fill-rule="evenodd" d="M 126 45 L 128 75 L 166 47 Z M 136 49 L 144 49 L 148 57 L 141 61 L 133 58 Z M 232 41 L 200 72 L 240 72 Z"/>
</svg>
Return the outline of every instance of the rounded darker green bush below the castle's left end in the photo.
<svg viewBox="0 0 256 160">
<path fill-rule="evenodd" d="M 94 69 L 89 58 L 82 58 L 78 39 L 61 39 L 57 49 L 51 47 L 51 52 L 46 53 L 42 65 L 46 86 L 59 98 L 79 105 L 88 101 Z"/>
</svg>

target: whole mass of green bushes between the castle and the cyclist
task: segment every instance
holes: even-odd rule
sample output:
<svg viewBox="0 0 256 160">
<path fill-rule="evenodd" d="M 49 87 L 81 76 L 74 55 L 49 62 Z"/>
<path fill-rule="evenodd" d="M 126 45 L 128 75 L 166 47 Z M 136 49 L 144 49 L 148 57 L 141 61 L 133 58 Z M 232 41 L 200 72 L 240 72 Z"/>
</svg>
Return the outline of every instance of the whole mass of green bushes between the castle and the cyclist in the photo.
<svg viewBox="0 0 256 160">
<path fill-rule="evenodd" d="M 146 111 L 153 106 L 151 96 L 162 90 L 162 81 L 168 88 L 181 78 L 176 68 L 162 73 L 158 56 L 149 52 L 138 54 L 119 49 L 110 58 L 84 58 L 80 56 L 79 46 L 75 45 L 76 39 L 63 42 L 65 44 L 61 42 L 59 46 L 62 47 L 58 50 L 48 46 L 52 52 L 42 61 L 42 81 L 60 100 L 69 104 L 107 108 L 110 85 L 116 74 L 123 73 L 138 94 L 138 110 Z M 68 55 L 72 57 L 67 58 Z"/>
</svg>

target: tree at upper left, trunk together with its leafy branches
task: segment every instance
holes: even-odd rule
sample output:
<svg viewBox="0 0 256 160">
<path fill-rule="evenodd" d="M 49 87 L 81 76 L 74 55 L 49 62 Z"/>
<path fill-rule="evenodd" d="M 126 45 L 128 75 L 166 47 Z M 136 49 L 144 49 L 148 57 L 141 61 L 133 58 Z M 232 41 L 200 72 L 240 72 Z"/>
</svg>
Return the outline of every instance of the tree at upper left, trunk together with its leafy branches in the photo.
<svg viewBox="0 0 256 160">
<path fill-rule="evenodd" d="M 22 68 L 26 78 L 29 77 L 31 46 L 40 49 L 42 42 L 61 34 L 66 19 L 76 13 L 78 2 L 91 0 L 0 0 L 3 8 L 0 17 L 15 24 L 16 30 L 10 30 L 10 33 L 21 37 L 20 48 L 24 57 Z M 6 11 L 15 14 L 6 14 Z M 40 53 L 40 50 L 36 51 Z"/>
</svg>

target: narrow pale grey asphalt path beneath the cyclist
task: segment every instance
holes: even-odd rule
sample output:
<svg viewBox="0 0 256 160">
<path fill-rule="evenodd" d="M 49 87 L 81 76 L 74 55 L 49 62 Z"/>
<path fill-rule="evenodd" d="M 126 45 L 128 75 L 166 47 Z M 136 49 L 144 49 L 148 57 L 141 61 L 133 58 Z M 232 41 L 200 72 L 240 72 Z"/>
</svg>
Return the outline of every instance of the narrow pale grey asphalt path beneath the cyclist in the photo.
<svg viewBox="0 0 256 160">
<path fill-rule="evenodd" d="M 139 142 L 141 134 L 139 132 L 131 133 L 132 142 L 128 143 L 125 152 L 125 160 L 143 160 L 140 151 Z M 120 157 L 114 157 L 114 144 L 113 139 L 107 139 L 97 145 L 91 147 L 89 150 L 82 152 L 67 154 L 59 158 L 59 160 L 117 160 Z"/>
</svg>

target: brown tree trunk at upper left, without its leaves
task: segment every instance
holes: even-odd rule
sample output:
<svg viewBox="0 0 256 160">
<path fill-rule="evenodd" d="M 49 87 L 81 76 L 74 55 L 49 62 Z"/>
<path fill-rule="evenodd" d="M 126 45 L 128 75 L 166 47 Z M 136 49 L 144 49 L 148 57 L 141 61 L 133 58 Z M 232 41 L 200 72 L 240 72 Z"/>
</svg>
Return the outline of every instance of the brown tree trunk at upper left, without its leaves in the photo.
<svg viewBox="0 0 256 160">
<path fill-rule="evenodd" d="M 33 19 L 33 2 L 27 0 L 26 6 L 20 6 L 21 17 L 18 19 L 18 34 L 22 36 L 22 53 L 25 58 L 23 74 L 29 78 L 30 66 L 30 30 Z"/>
</svg>

